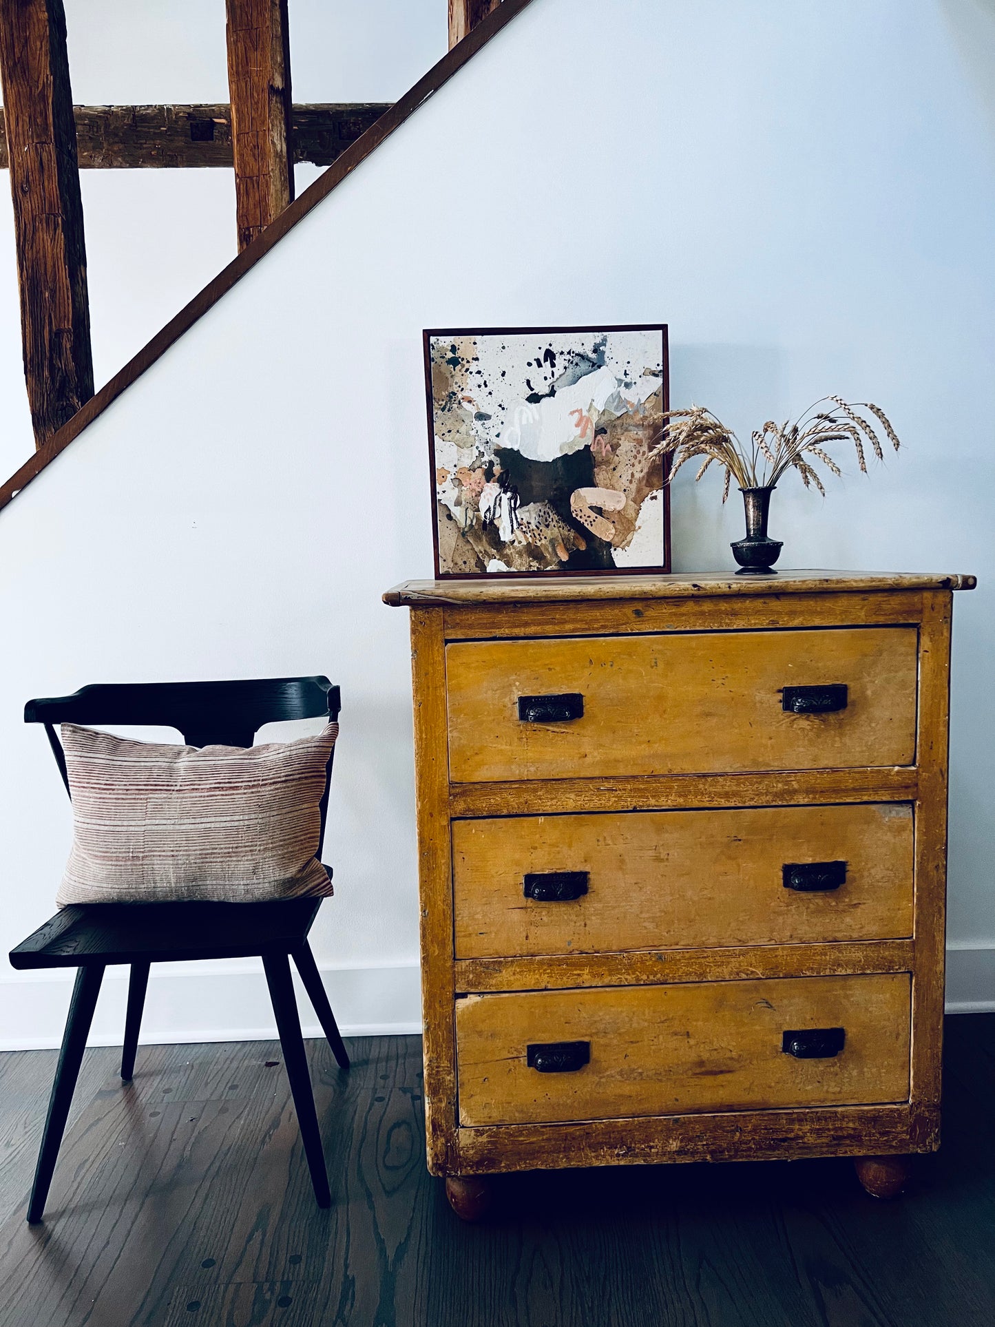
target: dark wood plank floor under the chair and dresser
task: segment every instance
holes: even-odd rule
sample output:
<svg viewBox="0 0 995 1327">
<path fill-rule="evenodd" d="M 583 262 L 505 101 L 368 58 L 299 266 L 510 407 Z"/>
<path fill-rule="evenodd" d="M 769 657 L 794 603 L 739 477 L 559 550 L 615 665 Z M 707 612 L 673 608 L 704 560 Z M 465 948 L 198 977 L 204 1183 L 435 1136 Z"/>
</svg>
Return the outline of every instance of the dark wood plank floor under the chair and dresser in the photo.
<svg viewBox="0 0 995 1327">
<path fill-rule="evenodd" d="M 308 1043 L 314 1206 L 273 1043 L 88 1051 L 41 1226 L 54 1052 L 0 1055 L 0 1327 L 991 1327 L 995 1015 L 947 1019 L 945 1145 L 898 1202 L 845 1161 L 509 1176 L 482 1226 L 422 1151 L 418 1038 Z"/>
</svg>

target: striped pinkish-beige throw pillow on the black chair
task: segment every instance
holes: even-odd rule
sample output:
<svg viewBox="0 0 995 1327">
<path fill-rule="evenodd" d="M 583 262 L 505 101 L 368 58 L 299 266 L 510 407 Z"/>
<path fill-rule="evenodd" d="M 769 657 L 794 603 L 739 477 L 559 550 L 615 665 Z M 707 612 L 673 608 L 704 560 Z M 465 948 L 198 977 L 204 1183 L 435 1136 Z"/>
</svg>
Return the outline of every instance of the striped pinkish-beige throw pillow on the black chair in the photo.
<svg viewBox="0 0 995 1327">
<path fill-rule="evenodd" d="M 297 742 L 198 748 L 64 723 L 73 851 L 58 906 L 330 894 L 316 855 L 337 736 L 329 723 Z"/>
</svg>

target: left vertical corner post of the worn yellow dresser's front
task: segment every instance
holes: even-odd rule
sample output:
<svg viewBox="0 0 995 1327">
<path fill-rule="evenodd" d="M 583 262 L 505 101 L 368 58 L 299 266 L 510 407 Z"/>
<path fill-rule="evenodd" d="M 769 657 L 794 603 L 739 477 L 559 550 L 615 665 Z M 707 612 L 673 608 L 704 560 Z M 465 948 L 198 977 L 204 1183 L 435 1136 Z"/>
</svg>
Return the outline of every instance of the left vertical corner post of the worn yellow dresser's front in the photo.
<svg viewBox="0 0 995 1327">
<path fill-rule="evenodd" d="M 411 614 L 418 821 L 425 1127 L 429 1169 L 454 1169 L 456 1063 L 452 1031 L 452 861 L 446 776 L 444 645 L 438 613 Z"/>
</svg>

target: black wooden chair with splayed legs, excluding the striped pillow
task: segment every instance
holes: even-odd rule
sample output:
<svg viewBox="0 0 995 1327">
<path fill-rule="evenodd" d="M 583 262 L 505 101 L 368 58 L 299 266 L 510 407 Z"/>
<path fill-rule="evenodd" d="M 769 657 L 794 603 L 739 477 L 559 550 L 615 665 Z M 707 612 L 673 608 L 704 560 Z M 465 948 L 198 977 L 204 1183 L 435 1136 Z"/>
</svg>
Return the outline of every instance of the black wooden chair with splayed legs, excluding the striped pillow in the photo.
<svg viewBox="0 0 995 1327">
<path fill-rule="evenodd" d="M 74 695 L 29 701 L 25 723 L 44 723 L 62 780 L 65 755 L 56 723 L 155 725 L 178 729 L 188 746 L 252 746 L 264 723 L 338 717 L 338 687 L 325 677 L 275 678 L 259 682 L 157 682 L 150 685 L 85 686 Z M 321 839 L 325 836 L 332 759 L 321 799 Z M 11 951 L 11 963 L 28 967 L 77 967 L 62 1048 L 41 1139 L 28 1221 L 41 1221 L 56 1168 L 73 1088 L 80 1074 L 86 1034 L 109 963 L 130 963 L 121 1078 L 134 1072 L 138 1028 L 155 962 L 187 958 L 263 959 L 273 1014 L 280 1032 L 314 1197 L 328 1208 L 332 1196 L 321 1148 L 310 1075 L 291 979 L 293 958 L 321 1027 L 341 1068 L 349 1068 L 332 1006 L 321 985 L 308 932 L 320 898 L 255 904 L 88 904 L 64 908 Z"/>
</svg>

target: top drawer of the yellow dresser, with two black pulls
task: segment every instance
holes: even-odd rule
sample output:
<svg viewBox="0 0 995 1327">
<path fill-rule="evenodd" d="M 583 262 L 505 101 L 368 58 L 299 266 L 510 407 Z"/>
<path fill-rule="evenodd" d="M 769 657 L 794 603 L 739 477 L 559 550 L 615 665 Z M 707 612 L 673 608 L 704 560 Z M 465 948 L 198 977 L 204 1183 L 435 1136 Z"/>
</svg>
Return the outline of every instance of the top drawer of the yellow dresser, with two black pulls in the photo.
<svg viewBox="0 0 995 1327">
<path fill-rule="evenodd" d="M 917 667 L 914 626 L 458 642 L 450 779 L 913 764 Z"/>
</svg>

